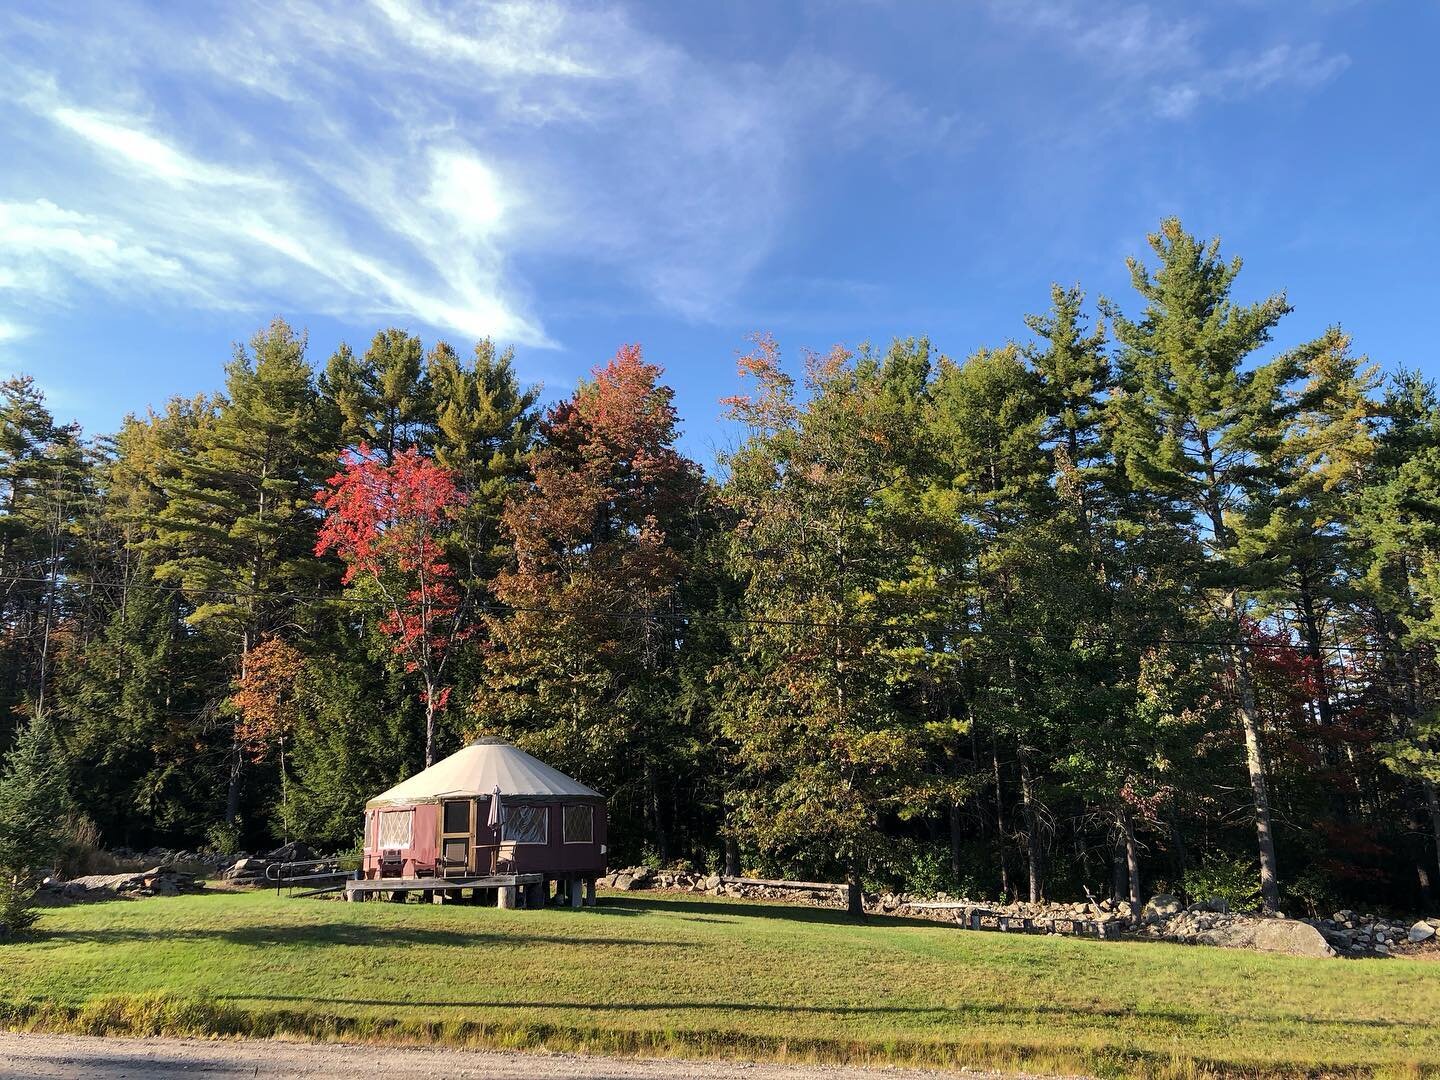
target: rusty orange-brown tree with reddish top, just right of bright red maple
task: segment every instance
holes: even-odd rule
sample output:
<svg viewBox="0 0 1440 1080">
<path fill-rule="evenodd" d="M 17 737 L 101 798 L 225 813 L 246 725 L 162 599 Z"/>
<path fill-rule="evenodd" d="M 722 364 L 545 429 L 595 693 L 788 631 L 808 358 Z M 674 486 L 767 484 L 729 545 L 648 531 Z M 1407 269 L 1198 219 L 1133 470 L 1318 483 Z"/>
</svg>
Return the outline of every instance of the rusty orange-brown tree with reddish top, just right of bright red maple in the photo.
<svg viewBox="0 0 1440 1080">
<path fill-rule="evenodd" d="M 605 789 L 668 857 L 690 744 L 674 704 L 681 586 L 706 487 L 675 449 L 660 379 L 625 346 L 540 422 L 531 481 L 503 516 L 513 563 L 495 577 L 475 708 Z"/>
</svg>

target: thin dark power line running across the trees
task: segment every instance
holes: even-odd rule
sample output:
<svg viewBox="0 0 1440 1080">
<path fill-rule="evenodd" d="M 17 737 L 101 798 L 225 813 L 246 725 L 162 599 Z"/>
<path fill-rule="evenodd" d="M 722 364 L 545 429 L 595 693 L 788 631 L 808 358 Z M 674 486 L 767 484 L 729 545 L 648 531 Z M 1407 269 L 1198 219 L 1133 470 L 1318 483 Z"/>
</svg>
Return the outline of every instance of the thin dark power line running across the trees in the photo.
<svg viewBox="0 0 1440 1080">
<path fill-rule="evenodd" d="M 6 582 L 12 583 L 30 583 L 30 585 L 49 585 L 52 579 L 49 577 L 26 577 L 26 576 L 7 576 Z M 387 600 L 370 596 L 354 596 L 344 593 L 298 593 L 298 592 L 271 592 L 271 593 L 243 593 L 230 589 L 190 589 L 180 585 L 160 585 L 156 582 L 71 582 L 72 588 L 78 589 L 109 589 L 109 590 L 124 590 L 124 589 L 148 589 L 153 592 L 167 592 L 179 593 L 181 596 L 203 596 L 209 599 L 229 599 L 232 602 L 243 600 L 271 600 L 271 602 L 294 602 L 294 603 L 315 603 L 328 606 L 354 606 L 354 608 L 379 608 L 383 611 L 392 609 Z M 598 619 L 613 619 L 616 622 L 675 622 L 675 624 L 717 624 L 717 625 L 752 625 L 752 626 L 773 626 L 773 628 L 791 628 L 791 629 L 821 629 L 821 631 L 897 631 L 897 629 L 919 629 L 923 632 L 932 632 L 936 635 L 949 636 L 965 636 L 965 635 L 981 635 L 986 638 L 994 638 L 991 632 L 979 631 L 969 626 L 958 626 L 955 624 L 936 624 L 923 621 L 907 621 L 907 615 L 890 615 L 878 619 L 865 621 L 835 621 L 835 619 L 782 619 L 763 615 L 726 615 L 723 612 L 696 612 L 696 611 L 662 611 L 662 612 L 625 612 L 625 611 L 606 611 L 602 608 L 559 608 L 559 606 L 536 606 L 536 605 L 504 605 L 504 603 L 472 603 L 469 605 L 474 611 L 482 615 L 505 615 L 510 612 L 523 612 L 527 615 L 547 615 L 552 618 L 598 618 Z M 901 621 L 901 622 L 896 622 Z M 1045 642 L 1050 641 L 1044 635 L 1008 635 L 1012 641 L 1032 641 Z M 1212 649 L 1230 649 L 1237 645 L 1251 651 L 1264 649 L 1290 649 L 1296 652 L 1309 652 L 1310 647 L 1297 642 L 1234 642 L 1221 638 L 1198 638 L 1187 635 L 1164 635 L 1155 638 L 1128 638 L 1122 635 L 1110 634 L 1076 634 L 1070 635 L 1068 642 L 1071 645 L 1132 645 L 1132 647 L 1146 647 L 1146 645 L 1194 645 L 1201 648 Z M 1390 652 L 1384 645 L 1348 645 L 1348 644 L 1320 644 L 1316 648 L 1322 652 L 1338 652 L 1338 654 L 1385 654 Z"/>
</svg>

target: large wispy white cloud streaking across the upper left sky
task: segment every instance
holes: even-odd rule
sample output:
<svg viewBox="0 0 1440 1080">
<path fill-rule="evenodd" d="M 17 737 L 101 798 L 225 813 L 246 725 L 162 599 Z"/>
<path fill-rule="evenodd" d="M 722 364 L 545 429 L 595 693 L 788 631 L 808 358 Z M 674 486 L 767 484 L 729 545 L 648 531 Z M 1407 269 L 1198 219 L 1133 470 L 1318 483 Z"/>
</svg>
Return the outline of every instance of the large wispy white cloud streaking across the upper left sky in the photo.
<svg viewBox="0 0 1440 1080">
<path fill-rule="evenodd" d="M 0 16 L 0 141 L 26 151 L 0 302 L 85 284 L 549 344 L 517 268 L 559 258 L 707 317 L 770 251 L 805 154 L 948 132 L 829 58 L 704 60 L 603 3 L 210 12 L 117 0 L 84 36 Z"/>
</svg>

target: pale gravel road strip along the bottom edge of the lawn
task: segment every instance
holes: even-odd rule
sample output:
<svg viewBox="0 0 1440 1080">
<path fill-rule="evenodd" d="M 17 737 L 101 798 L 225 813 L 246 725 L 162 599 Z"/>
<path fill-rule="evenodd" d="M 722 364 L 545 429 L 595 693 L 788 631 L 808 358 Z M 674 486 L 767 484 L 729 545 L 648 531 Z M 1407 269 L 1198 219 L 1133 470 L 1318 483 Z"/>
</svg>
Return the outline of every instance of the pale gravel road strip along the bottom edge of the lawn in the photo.
<svg viewBox="0 0 1440 1080">
<path fill-rule="evenodd" d="M 484 1080 L 999 1080 L 995 1073 L 929 1073 L 901 1068 L 773 1066 L 739 1061 L 661 1061 L 577 1054 L 364 1047 L 337 1043 L 95 1038 L 0 1031 L 0 1080 L 26 1077 L 258 1076 L 484 1077 Z M 1014 1077 L 1011 1077 L 1014 1080 Z"/>
</svg>

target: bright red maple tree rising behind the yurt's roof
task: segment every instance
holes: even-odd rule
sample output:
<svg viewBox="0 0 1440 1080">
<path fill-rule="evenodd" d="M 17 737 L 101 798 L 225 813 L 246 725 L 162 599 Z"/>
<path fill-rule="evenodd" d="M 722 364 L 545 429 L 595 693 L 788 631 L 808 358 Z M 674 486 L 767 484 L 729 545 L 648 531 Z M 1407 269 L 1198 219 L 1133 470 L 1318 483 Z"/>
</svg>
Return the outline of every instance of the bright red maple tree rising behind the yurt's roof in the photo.
<svg viewBox="0 0 1440 1080">
<path fill-rule="evenodd" d="M 386 465 L 360 446 L 315 494 L 325 508 L 315 554 L 334 552 L 344 583 L 357 585 L 384 608 L 380 631 L 423 681 L 425 763 L 435 763 L 435 719 L 449 703 L 445 667 L 474 625 L 442 539 L 465 495 L 449 469 L 408 449 Z"/>
</svg>

